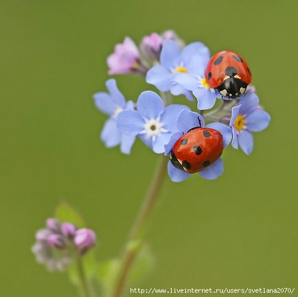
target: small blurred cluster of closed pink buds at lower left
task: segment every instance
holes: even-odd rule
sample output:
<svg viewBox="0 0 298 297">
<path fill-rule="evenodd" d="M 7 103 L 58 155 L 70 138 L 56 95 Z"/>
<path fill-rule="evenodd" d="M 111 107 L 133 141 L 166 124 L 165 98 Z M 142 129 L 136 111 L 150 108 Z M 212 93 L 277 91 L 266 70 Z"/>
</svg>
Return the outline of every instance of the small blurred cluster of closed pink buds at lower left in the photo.
<svg viewBox="0 0 298 297">
<path fill-rule="evenodd" d="M 73 252 L 84 254 L 95 246 L 96 235 L 89 228 L 77 229 L 69 222 L 47 219 L 46 227 L 36 232 L 36 243 L 32 246 L 38 263 L 48 270 L 65 270 L 71 262 Z"/>
</svg>

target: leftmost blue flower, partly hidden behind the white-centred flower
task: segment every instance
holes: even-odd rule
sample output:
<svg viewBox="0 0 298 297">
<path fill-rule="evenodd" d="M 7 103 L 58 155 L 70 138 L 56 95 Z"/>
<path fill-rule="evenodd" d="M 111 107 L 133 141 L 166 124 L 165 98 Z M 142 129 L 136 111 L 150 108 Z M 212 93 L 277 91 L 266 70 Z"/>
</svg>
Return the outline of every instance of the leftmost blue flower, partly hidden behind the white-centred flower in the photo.
<svg viewBox="0 0 298 297">
<path fill-rule="evenodd" d="M 106 81 L 106 88 L 109 93 L 100 92 L 93 96 L 97 108 L 110 116 L 104 123 L 100 138 L 104 141 L 106 147 L 115 147 L 120 144 L 121 152 L 130 154 L 130 149 L 135 142 L 135 136 L 121 132 L 117 128 L 116 119 L 122 110 L 133 110 L 133 102 L 126 102 L 114 79 Z"/>
</svg>

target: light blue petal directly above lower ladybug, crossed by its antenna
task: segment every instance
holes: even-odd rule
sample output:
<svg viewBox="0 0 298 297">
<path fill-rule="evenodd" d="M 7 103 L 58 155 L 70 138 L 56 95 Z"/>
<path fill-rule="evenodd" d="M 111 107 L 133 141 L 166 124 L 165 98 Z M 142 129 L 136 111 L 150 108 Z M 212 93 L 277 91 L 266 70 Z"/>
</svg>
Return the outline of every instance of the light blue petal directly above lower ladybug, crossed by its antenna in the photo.
<svg viewBox="0 0 298 297">
<path fill-rule="evenodd" d="M 200 120 L 200 121 L 199 121 Z M 190 110 L 182 110 L 177 119 L 177 129 L 181 132 L 187 133 L 188 130 L 195 127 L 204 127 L 205 121 L 198 112 Z"/>
</svg>

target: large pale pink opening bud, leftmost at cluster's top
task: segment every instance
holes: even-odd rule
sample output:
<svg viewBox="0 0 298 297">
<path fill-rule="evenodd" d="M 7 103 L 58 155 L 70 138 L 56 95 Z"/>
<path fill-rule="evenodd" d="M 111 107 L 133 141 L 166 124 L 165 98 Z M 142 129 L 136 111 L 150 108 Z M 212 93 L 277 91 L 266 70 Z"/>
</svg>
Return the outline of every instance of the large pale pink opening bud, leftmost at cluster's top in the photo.
<svg viewBox="0 0 298 297">
<path fill-rule="evenodd" d="M 115 46 L 113 54 L 108 56 L 108 74 L 127 74 L 132 72 L 143 73 L 146 71 L 141 63 L 139 50 L 129 37 L 123 43 Z"/>
</svg>

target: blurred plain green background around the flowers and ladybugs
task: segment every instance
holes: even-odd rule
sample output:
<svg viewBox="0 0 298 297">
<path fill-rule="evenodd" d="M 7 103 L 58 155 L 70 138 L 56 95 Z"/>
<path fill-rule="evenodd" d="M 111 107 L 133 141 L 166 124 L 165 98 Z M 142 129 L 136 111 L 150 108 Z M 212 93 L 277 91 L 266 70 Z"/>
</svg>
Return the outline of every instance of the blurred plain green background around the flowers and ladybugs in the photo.
<svg viewBox="0 0 298 297">
<path fill-rule="evenodd" d="M 142 285 L 298 285 L 297 4 L 1 0 L 0 296 L 76 296 L 30 252 L 60 200 L 95 229 L 99 259 L 122 249 L 157 155 L 140 141 L 130 156 L 106 149 L 92 95 L 105 91 L 115 43 L 165 29 L 244 56 L 272 121 L 250 156 L 225 151 L 218 180 L 167 178 L 147 236 L 155 270 Z M 117 81 L 128 99 L 152 88 L 137 76 Z"/>
</svg>

